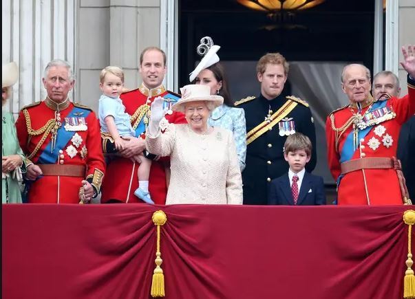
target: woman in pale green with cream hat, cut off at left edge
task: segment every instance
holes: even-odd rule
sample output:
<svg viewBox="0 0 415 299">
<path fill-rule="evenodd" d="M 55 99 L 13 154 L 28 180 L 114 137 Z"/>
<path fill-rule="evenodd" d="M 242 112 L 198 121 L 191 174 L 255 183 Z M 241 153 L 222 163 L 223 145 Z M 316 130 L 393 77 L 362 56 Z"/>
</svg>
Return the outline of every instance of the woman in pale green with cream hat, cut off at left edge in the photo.
<svg viewBox="0 0 415 299">
<path fill-rule="evenodd" d="M 1 106 L 4 108 L 10 97 L 12 85 L 17 81 L 16 63 L 3 65 L 1 73 Z M 17 140 L 16 127 L 12 113 L 1 110 L 1 202 L 21 203 L 19 181 L 23 151 Z"/>
</svg>

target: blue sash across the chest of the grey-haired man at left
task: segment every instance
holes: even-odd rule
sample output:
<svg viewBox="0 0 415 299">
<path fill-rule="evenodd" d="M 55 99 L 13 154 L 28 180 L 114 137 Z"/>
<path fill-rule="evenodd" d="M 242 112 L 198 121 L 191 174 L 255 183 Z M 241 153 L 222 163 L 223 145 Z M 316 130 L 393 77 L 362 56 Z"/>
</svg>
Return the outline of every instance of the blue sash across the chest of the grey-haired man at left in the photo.
<svg viewBox="0 0 415 299">
<path fill-rule="evenodd" d="M 74 118 L 78 117 L 80 114 L 83 118 L 87 118 L 91 111 L 79 107 L 74 107 L 72 111 L 66 116 L 66 118 Z M 66 131 L 64 128 L 64 124 L 62 122 L 62 126 L 58 129 L 58 134 L 56 136 L 56 144 L 54 151 L 51 153 L 52 150 L 52 140 L 49 141 L 43 153 L 41 153 L 39 160 L 37 163 L 39 164 L 55 164 L 58 161 L 59 157 L 59 150 L 62 149 L 75 135 L 75 131 Z"/>
</svg>

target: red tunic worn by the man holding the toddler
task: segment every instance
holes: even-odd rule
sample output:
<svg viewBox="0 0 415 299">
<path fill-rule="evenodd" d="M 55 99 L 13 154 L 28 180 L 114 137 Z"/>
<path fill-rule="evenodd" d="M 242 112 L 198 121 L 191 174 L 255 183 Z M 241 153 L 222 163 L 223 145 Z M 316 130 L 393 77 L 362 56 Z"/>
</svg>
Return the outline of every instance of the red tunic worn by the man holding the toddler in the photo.
<svg viewBox="0 0 415 299">
<path fill-rule="evenodd" d="M 147 104 L 151 105 L 151 102 L 158 96 L 162 96 L 165 99 L 170 98 L 172 103 L 178 99 L 177 95 L 173 96 L 173 93 L 165 90 L 162 86 L 149 90 L 144 85 L 141 85 L 138 89 L 121 94 L 120 98 L 123 100 L 125 112 L 129 115 L 134 115 L 140 107 L 145 106 L 147 100 Z M 186 123 L 183 113 L 168 113 L 165 118 L 174 124 Z M 144 118 L 140 121 L 139 126 L 144 126 L 143 120 Z M 134 120 L 132 123 L 134 124 Z M 141 134 L 140 137 L 144 138 L 145 135 Z M 134 195 L 134 191 L 138 188 L 138 167 L 139 164 L 133 163 L 130 159 L 124 157 L 116 157 L 111 160 L 107 165 L 107 173 L 103 181 L 101 203 L 106 203 L 111 199 L 125 203 L 143 202 Z M 149 192 L 151 199 L 156 204 L 164 204 L 166 202 L 166 167 L 169 167 L 169 158 L 167 157 L 162 157 L 157 161 L 153 160 L 151 163 Z"/>
</svg>

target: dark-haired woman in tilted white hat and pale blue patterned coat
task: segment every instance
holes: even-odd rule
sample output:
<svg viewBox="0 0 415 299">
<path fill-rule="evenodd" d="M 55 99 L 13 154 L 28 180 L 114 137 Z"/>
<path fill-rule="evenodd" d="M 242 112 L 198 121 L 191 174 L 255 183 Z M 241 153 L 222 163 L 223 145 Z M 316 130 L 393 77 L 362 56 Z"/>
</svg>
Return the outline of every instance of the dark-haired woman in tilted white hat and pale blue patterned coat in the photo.
<svg viewBox="0 0 415 299">
<path fill-rule="evenodd" d="M 219 45 L 213 45 L 212 38 L 205 36 L 200 40 L 198 54 L 203 56 L 198 66 L 189 76 L 192 84 L 208 85 L 211 95 L 224 98 L 224 103 L 212 111 L 209 125 L 220 126 L 233 133 L 240 170 L 245 168 L 246 158 L 246 121 L 244 109 L 236 108 L 229 93 L 224 67 L 216 52 Z"/>
</svg>

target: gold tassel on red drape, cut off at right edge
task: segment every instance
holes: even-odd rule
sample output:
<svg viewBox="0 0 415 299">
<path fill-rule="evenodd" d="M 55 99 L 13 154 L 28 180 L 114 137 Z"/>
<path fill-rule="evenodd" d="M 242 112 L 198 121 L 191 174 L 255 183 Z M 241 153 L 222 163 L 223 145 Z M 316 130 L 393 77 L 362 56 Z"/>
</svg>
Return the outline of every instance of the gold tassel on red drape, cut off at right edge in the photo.
<svg viewBox="0 0 415 299">
<path fill-rule="evenodd" d="M 409 225 L 408 228 L 408 258 L 406 260 L 407 270 L 405 271 L 405 278 L 403 278 L 403 298 L 405 299 L 415 299 L 415 276 L 414 270 L 412 270 L 412 252 L 411 252 L 411 243 L 412 243 L 412 225 L 415 223 L 415 211 L 406 210 L 403 213 L 403 222 Z"/>
</svg>

